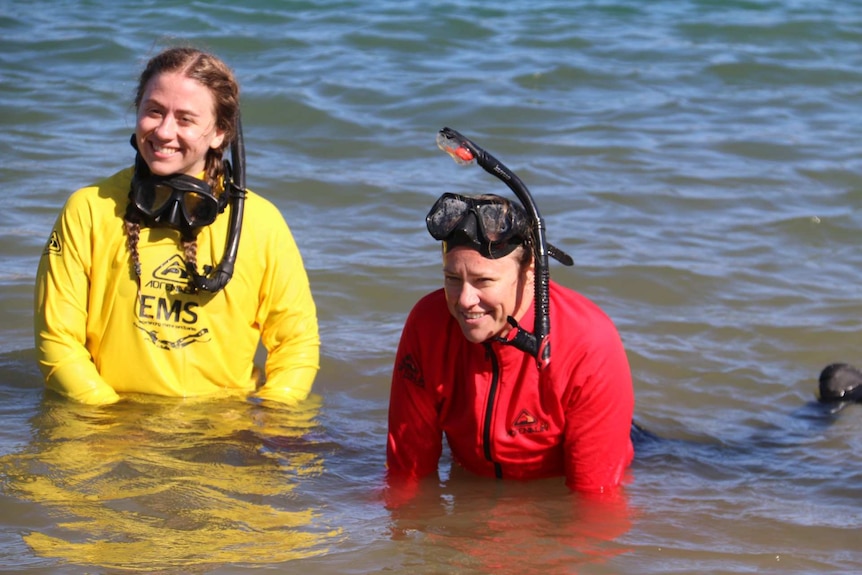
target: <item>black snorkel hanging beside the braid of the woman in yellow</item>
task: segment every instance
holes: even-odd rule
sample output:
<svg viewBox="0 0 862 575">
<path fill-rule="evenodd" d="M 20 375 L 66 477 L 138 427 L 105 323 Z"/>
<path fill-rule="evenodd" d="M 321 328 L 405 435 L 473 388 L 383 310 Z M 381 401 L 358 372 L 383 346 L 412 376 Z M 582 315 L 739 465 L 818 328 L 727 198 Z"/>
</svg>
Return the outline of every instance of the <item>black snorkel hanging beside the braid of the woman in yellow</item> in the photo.
<svg viewBox="0 0 862 575">
<path fill-rule="evenodd" d="M 245 208 L 247 191 L 245 188 L 245 141 L 242 137 L 242 120 L 239 112 L 236 116 L 236 136 L 230 144 L 230 163 L 225 165 L 225 194 L 230 202 L 230 223 L 227 231 L 227 243 L 224 255 L 214 270 L 209 274 L 199 274 L 191 263 L 186 262 L 194 286 L 203 291 L 216 293 L 224 288 L 233 277 L 236 264 L 236 254 L 239 251 L 239 238 L 242 233 L 242 217 Z M 233 166 L 231 168 L 231 166 Z"/>
</svg>

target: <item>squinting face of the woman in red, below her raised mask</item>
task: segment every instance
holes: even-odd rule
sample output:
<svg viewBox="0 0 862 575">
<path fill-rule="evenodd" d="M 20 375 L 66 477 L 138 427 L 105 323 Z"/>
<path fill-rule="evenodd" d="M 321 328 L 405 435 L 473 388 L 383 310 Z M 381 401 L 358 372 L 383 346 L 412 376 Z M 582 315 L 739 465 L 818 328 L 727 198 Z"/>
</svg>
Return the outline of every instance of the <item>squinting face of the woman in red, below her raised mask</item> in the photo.
<svg viewBox="0 0 862 575">
<path fill-rule="evenodd" d="M 520 320 L 532 299 L 532 267 L 522 269 L 520 250 L 491 260 L 468 247 L 443 255 L 446 303 L 464 337 L 480 343 L 508 333 L 508 316 Z"/>
</svg>

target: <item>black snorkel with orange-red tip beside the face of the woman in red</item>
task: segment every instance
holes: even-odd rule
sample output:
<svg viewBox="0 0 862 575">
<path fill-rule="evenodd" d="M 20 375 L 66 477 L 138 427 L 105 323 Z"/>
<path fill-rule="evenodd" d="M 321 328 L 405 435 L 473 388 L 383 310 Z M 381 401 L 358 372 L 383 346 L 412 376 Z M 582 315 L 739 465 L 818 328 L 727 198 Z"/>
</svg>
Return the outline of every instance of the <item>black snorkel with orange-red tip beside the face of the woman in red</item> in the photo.
<svg viewBox="0 0 862 575">
<path fill-rule="evenodd" d="M 530 217 L 536 274 L 534 282 L 534 333 L 524 330 L 518 325 L 515 318 L 509 316 L 509 324 L 516 329 L 516 334 L 512 339 L 503 341 L 535 357 L 539 369 L 542 369 L 551 362 L 551 346 L 548 340 L 548 334 L 551 330 L 551 320 L 549 317 L 550 299 L 548 295 L 550 282 L 550 273 L 548 271 L 549 248 L 545 239 L 545 222 L 539 213 L 536 203 L 533 201 L 533 196 L 521 179 L 503 165 L 502 162 L 452 128 L 443 128 L 437 133 L 437 146 L 452 156 L 452 159 L 457 164 L 467 165 L 476 160 L 486 172 L 502 180 L 515 193 Z M 571 257 L 559 250 L 555 250 L 554 257 L 566 265 L 572 265 Z"/>
</svg>

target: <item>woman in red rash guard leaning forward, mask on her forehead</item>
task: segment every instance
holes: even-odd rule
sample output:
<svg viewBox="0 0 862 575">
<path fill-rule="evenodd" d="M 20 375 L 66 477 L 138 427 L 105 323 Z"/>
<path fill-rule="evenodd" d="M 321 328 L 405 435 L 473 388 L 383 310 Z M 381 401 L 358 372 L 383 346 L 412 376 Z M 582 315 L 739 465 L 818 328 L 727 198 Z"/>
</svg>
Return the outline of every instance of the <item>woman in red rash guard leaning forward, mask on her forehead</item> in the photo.
<svg viewBox="0 0 862 575">
<path fill-rule="evenodd" d="M 553 360 L 542 366 L 515 344 L 536 323 L 537 234 L 524 208 L 447 193 L 426 223 L 442 241 L 444 285 L 414 306 L 395 358 L 387 479 L 396 499 L 437 473 L 444 435 L 454 464 L 477 475 L 561 476 L 573 491 L 616 492 L 634 455 L 634 392 L 611 320 L 547 280 Z"/>
</svg>

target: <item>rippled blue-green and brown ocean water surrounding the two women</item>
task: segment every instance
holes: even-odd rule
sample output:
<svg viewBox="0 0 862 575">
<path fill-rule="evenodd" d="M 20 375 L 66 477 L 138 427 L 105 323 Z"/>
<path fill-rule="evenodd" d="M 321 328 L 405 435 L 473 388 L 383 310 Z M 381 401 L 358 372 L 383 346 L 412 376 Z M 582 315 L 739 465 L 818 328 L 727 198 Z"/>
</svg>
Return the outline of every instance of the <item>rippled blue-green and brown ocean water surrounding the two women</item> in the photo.
<svg viewBox="0 0 862 575">
<path fill-rule="evenodd" d="M 298 409 L 42 389 L 39 254 L 131 163 L 136 77 L 177 43 L 235 69 L 248 184 L 309 271 Z M 0 572 L 859 572 L 862 407 L 814 393 L 862 363 L 860 43 L 857 0 L 0 0 Z M 425 213 L 506 192 L 443 126 L 518 173 L 575 259 L 552 278 L 622 334 L 645 431 L 615 506 L 445 466 L 383 505 Z"/>
</svg>

